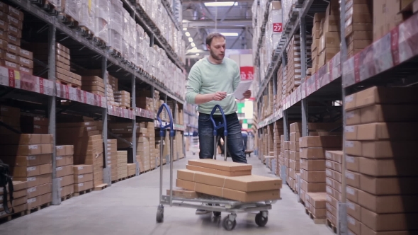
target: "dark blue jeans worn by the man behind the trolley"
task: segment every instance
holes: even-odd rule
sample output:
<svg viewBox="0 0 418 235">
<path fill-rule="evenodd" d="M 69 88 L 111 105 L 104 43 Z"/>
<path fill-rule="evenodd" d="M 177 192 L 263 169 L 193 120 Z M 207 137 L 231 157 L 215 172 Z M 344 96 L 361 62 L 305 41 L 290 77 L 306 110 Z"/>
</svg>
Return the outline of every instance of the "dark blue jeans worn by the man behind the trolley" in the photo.
<svg viewBox="0 0 418 235">
<path fill-rule="evenodd" d="M 225 115 L 227 120 L 227 151 L 232 156 L 232 161 L 247 164 L 247 159 L 244 154 L 244 142 L 242 141 L 241 125 L 239 124 L 237 113 Z M 223 122 L 222 117 L 213 115 L 215 123 Z M 210 115 L 199 113 L 199 158 L 213 159 L 215 154 L 214 138 L 213 138 L 213 123 L 210 121 Z M 224 128 L 218 130 L 218 135 L 223 137 Z M 227 154 L 227 153 L 225 153 Z"/>
</svg>

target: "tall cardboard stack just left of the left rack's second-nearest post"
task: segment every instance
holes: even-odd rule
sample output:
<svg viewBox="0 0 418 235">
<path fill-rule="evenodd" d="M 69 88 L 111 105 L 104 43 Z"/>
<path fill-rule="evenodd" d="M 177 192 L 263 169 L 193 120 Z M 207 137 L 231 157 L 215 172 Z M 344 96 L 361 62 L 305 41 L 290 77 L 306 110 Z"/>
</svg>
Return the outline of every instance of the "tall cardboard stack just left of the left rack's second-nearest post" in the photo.
<svg viewBox="0 0 418 235">
<path fill-rule="evenodd" d="M 84 120 L 88 121 L 57 123 L 57 144 L 74 145 L 74 164 L 93 165 L 94 187 L 98 187 L 103 184 L 103 139 L 97 128 L 101 122 Z"/>
</svg>

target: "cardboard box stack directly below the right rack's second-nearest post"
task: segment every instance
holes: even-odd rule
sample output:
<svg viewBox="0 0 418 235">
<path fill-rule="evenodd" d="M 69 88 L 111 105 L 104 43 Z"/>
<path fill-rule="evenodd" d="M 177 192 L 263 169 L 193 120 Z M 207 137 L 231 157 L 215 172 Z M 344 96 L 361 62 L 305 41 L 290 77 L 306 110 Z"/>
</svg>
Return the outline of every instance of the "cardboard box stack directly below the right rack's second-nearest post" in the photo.
<svg viewBox="0 0 418 235">
<path fill-rule="evenodd" d="M 315 128 L 321 128 L 319 126 Z M 300 138 L 300 194 L 305 195 L 305 206 L 317 219 L 325 219 L 327 216 L 326 205 L 320 203 L 322 208 L 315 207 L 315 203 L 307 203 L 310 193 L 323 193 L 315 195 L 312 200 L 326 200 L 326 157 L 325 151 L 341 149 L 341 137 L 339 136 L 308 136 Z M 341 175 L 341 174 L 340 174 Z M 341 182 L 341 180 L 339 180 Z"/>
</svg>

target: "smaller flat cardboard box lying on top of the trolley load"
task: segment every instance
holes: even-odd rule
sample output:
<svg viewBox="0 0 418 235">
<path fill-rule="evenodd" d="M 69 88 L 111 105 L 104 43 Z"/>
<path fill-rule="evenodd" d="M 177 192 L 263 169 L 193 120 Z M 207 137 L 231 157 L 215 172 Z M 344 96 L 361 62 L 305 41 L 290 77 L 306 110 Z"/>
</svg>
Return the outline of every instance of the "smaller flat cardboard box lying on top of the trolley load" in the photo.
<svg viewBox="0 0 418 235">
<path fill-rule="evenodd" d="M 193 159 L 188 160 L 188 165 L 201 166 L 205 168 L 213 168 L 221 171 L 249 171 L 252 170 L 252 165 L 239 164 L 230 161 L 217 161 L 213 159 Z"/>
</svg>

